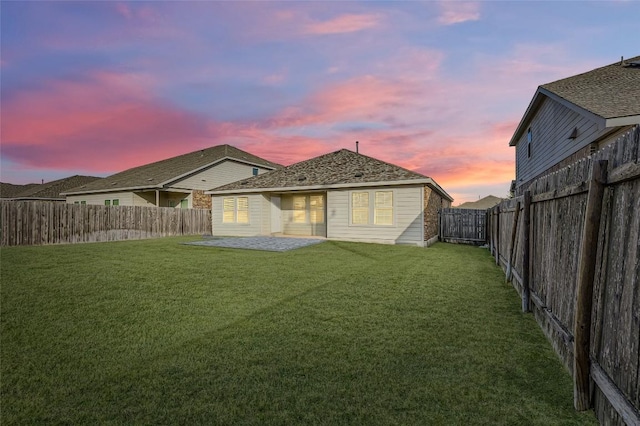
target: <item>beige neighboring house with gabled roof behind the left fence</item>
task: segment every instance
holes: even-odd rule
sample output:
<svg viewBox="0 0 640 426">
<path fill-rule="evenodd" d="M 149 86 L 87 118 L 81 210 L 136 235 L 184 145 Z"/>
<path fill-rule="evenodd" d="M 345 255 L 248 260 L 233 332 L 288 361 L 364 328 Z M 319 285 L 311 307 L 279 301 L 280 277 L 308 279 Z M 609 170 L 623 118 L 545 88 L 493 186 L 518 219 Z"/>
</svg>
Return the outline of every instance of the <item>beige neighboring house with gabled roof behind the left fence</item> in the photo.
<svg viewBox="0 0 640 426">
<path fill-rule="evenodd" d="M 217 145 L 134 167 L 65 192 L 67 203 L 211 208 L 204 191 L 282 167 L 231 145 Z"/>
</svg>

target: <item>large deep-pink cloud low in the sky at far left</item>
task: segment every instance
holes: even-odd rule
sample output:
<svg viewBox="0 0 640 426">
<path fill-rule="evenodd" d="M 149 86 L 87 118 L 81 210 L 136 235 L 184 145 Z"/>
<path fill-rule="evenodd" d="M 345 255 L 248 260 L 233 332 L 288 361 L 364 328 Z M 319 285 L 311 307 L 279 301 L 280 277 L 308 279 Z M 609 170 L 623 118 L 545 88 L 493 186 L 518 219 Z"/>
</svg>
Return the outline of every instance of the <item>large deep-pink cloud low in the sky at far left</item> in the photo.
<svg viewBox="0 0 640 426">
<path fill-rule="evenodd" d="M 138 75 L 51 81 L 3 104 L 3 156 L 31 167 L 119 171 L 206 143 L 208 122 L 154 99 Z"/>
</svg>

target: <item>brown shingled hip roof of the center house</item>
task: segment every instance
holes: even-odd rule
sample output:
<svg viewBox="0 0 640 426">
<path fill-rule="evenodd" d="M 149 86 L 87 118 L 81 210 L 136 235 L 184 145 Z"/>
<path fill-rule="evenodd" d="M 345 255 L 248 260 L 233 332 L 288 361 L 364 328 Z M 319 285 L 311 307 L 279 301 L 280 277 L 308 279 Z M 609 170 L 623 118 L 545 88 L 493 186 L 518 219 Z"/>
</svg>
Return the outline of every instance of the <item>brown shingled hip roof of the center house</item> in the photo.
<svg viewBox="0 0 640 426">
<path fill-rule="evenodd" d="M 348 149 L 301 161 L 263 175 L 243 179 L 207 191 L 230 194 L 269 191 L 302 191 L 361 186 L 428 184 L 453 201 L 433 179 Z"/>
</svg>

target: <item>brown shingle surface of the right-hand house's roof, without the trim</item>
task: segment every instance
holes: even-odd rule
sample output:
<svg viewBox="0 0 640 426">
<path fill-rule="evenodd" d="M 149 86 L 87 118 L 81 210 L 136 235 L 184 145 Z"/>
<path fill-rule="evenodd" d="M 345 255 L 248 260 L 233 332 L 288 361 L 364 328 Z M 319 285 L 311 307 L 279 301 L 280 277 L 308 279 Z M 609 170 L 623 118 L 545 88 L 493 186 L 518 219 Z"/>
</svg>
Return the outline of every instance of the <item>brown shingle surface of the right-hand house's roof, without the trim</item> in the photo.
<svg viewBox="0 0 640 426">
<path fill-rule="evenodd" d="M 640 56 L 540 86 L 603 118 L 640 115 Z"/>
</svg>

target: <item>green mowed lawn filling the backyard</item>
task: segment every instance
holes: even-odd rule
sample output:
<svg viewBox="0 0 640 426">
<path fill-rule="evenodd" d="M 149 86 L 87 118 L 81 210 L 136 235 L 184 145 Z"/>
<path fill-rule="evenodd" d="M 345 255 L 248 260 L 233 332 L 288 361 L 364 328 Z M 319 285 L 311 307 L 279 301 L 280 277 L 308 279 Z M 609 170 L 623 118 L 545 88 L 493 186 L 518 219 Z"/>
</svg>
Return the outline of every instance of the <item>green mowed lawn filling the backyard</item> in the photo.
<svg viewBox="0 0 640 426">
<path fill-rule="evenodd" d="M 189 240 L 3 248 L 2 424 L 596 424 L 485 249 Z"/>
</svg>

